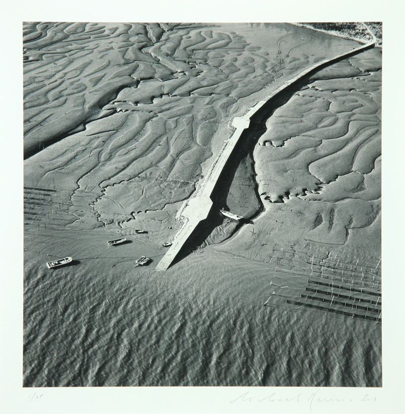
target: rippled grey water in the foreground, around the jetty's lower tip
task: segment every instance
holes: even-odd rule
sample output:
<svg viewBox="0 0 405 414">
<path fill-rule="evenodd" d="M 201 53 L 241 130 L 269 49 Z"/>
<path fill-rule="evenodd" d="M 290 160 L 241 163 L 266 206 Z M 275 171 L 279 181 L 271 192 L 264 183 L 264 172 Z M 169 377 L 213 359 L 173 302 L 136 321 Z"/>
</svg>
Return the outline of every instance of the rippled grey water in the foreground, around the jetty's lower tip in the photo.
<svg viewBox="0 0 405 414">
<path fill-rule="evenodd" d="M 263 306 L 266 263 L 209 246 L 156 272 L 136 240 L 26 234 L 24 386 L 381 386 L 381 324 Z M 61 250 L 80 263 L 47 269 Z"/>
</svg>

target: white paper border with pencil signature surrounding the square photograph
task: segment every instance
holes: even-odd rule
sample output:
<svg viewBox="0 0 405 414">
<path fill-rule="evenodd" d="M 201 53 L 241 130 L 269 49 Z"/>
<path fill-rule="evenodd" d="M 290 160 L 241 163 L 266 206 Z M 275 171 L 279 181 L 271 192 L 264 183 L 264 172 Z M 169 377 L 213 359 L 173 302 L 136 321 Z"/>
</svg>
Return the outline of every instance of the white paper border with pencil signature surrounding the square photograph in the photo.
<svg viewBox="0 0 405 414">
<path fill-rule="evenodd" d="M 0 411 L 4 413 L 402 413 L 404 44 L 400 1 L 8 1 L 1 17 Z M 397 17 L 398 16 L 398 17 Z M 383 21 L 383 387 L 22 388 L 22 21 Z M 310 405 L 311 395 L 331 401 Z M 244 395 L 238 401 L 231 401 Z M 282 401 L 267 401 L 267 395 Z M 297 402 L 297 395 L 300 401 Z M 376 396 L 377 402 L 361 401 Z M 295 400 L 294 400 L 295 398 Z M 251 399 L 251 400 L 249 400 Z M 292 399 L 292 401 L 284 401 Z M 337 399 L 337 400 L 336 400 Z M 350 402 L 350 399 L 352 400 Z M 244 401 L 242 401 L 244 400 Z M 263 401 L 259 401 L 263 400 Z M 334 400 L 334 401 L 333 401 Z M 339 400 L 344 400 L 339 401 Z M 274 404 L 279 403 L 279 404 Z M 351 403 L 351 404 L 349 404 Z"/>
</svg>

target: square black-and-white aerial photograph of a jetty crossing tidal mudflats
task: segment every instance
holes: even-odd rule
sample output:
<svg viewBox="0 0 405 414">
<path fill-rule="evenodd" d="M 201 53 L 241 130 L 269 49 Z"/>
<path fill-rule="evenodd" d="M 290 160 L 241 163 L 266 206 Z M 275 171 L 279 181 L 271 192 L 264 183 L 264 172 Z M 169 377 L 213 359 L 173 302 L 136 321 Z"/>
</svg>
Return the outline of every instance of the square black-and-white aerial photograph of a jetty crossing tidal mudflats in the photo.
<svg viewBox="0 0 405 414">
<path fill-rule="evenodd" d="M 21 21 L 25 399 L 375 412 L 385 25 L 269 18 Z"/>
</svg>

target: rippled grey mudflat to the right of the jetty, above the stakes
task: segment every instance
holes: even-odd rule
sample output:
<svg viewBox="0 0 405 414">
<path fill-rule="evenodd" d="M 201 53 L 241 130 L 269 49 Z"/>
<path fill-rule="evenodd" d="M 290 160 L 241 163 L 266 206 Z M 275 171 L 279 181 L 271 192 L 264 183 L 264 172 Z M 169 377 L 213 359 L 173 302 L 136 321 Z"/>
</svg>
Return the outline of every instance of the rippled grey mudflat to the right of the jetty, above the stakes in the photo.
<svg viewBox="0 0 405 414">
<path fill-rule="evenodd" d="M 378 49 L 335 64 L 312 77 L 269 118 L 253 151 L 265 208 L 255 226 L 262 242 L 332 248 L 378 262 L 378 68 Z"/>
</svg>

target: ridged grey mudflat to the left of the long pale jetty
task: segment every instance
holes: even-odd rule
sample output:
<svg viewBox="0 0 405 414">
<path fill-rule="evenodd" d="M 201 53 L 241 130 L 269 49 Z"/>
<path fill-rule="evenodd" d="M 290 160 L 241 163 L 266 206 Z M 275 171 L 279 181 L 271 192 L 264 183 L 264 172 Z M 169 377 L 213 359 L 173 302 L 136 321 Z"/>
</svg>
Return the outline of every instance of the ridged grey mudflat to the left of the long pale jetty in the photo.
<svg viewBox="0 0 405 414">
<path fill-rule="evenodd" d="M 294 73 L 316 59 L 300 52 L 301 45 L 311 40 L 308 35 L 311 31 L 298 29 L 303 35 L 297 45 L 293 34 L 297 28 L 291 30 L 287 25 L 279 25 L 280 37 L 272 46 L 274 57 L 269 56 L 268 49 L 251 44 L 254 28 L 249 25 L 242 25 L 247 40 L 237 35 L 231 24 L 159 27 L 47 24 L 47 35 L 40 43 L 27 42 L 26 104 L 31 107 L 27 106 L 25 111 L 29 131 L 24 141 L 31 148 L 32 142 L 37 145 L 34 137 L 41 137 L 38 145 L 42 148 L 65 134 L 68 128 L 65 121 L 52 121 L 61 115 L 75 122 L 69 124 L 73 132 L 75 128 L 84 128 L 82 132 L 69 132 L 63 143 L 57 142 L 25 162 L 30 185 L 56 186 L 73 192 L 74 206 L 69 212 L 73 214 L 73 222 L 75 216 L 79 218 L 73 226 L 85 223 L 88 228 L 121 227 L 121 231 L 131 232 L 131 228 L 138 226 L 133 223 L 134 214 L 150 221 L 146 212 L 168 208 L 169 216 L 173 216 L 178 208 L 176 203 L 187 199 L 199 185 L 204 161 L 216 156 L 218 143 L 223 141 L 222 134 L 226 131 L 222 129 L 226 128 L 223 120 L 240 113 L 244 105 L 257 99 L 257 93 L 250 89 L 250 78 L 258 93 L 263 94 L 263 85 L 281 82 L 286 73 Z M 61 29 L 65 33 L 62 51 L 54 53 L 61 37 L 52 34 Z M 274 31 L 273 27 L 262 28 L 264 32 L 270 29 Z M 44 30 L 41 24 L 28 25 L 27 36 Z M 156 34 L 151 35 L 153 30 Z M 338 47 L 347 48 L 347 41 L 333 41 Z M 154 46 L 149 46 L 154 42 Z M 311 40 L 311 44 L 314 42 Z M 37 49 L 40 55 L 35 55 Z M 170 69 L 161 63 L 162 57 L 174 62 L 173 65 L 183 66 Z M 37 76 L 37 72 L 41 75 Z M 103 91 L 116 86 L 116 96 L 110 103 L 105 104 L 94 89 L 98 83 L 83 91 L 70 86 L 79 79 L 103 74 L 99 80 Z M 44 91 L 51 87 L 56 88 L 55 92 L 46 92 L 47 98 L 42 99 Z M 65 97 L 65 92 L 59 93 L 58 88 L 70 94 Z M 244 93 L 247 96 L 241 98 Z M 91 115 L 83 127 L 83 102 L 90 102 L 93 96 L 98 96 L 94 101 L 98 102 L 94 106 L 98 120 L 89 122 Z M 72 105 L 81 108 L 77 110 L 81 113 L 79 117 L 72 117 L 73 112 L 66 111 L 70 99 Z M 92 106 L 84 104 L 86 107 Z M 46 111 L 52 112 L 52 116 L 43 119 Z M 39 115 L 35 114 L 39 113 L 42 124 L 37 125 L 35 119 Z M 167 213 L 161 216 L 166 221 Z M 170 226 L 175 227 L 176 223 L 165 223 L 162 229 Z M 167 236 L 170 238 L 172 234 Z"/>
</svg>

